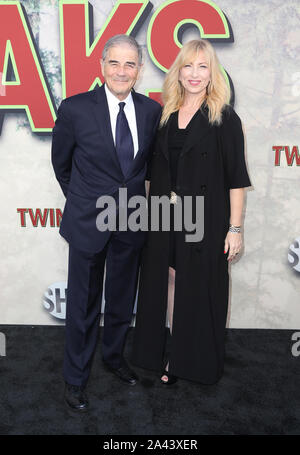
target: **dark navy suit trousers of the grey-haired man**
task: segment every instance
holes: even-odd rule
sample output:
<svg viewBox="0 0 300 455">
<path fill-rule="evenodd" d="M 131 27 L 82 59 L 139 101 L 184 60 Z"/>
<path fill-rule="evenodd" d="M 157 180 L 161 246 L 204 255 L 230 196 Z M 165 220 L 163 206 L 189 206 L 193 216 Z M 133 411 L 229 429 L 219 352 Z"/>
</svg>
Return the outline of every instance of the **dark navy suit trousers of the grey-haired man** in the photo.
<svg viewBox="0 0 300 455">
<path fill-rule="evenodd" d="M 126 232 L 113 232 L 96 254 L 69 246 L 63 366 L 67 383 L 85 387 L 89 378 L 99 336 L 104 271 L 102 358 L 113 368 L 122 365 L 136 297 L 140 252 L 141 248 L 126 243 Z"/>
</svg>

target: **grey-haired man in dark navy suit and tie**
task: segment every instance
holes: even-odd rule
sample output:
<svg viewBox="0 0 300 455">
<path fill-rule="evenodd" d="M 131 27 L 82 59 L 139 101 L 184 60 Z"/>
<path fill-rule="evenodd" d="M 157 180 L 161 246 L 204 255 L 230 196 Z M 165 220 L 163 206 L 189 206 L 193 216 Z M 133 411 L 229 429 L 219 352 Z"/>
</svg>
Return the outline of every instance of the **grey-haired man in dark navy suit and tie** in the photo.
<svg viewBox="0 0 300 455">
<path fill-rule="evenodd" d="M 161 115 L 155 101 L 133 86 L 142 66 L 134 38 L 116 35 L 103 49 L 105 84 L 62 101 L 53 128 L 52 164 L 66 196 L 60 234 L 69 242 L 65 400 L 88 408 L 85 387 L 99 332 L 104 266 L 102 358 L 123 382 L 138 380 L 123 357 L 136 295 L 140 251 L 146 233 L 118 229 L 119 190 L 145 196 L 151 143 Z M 96 225 L 101 196 L 116 201 L 116 230 Z"/>
</svg>

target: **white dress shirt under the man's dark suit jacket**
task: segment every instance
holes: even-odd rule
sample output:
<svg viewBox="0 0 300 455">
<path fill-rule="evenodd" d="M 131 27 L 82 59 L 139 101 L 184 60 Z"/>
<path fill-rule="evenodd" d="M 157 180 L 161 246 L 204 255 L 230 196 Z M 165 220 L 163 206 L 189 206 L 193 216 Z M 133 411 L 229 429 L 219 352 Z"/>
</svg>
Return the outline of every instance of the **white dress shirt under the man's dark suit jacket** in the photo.
<svg viewBox="0 0 300 455">
<path fill-rule="evenodd" d="M 110 115 L 110 124 L 111 124 L 111 131 L 114 139 L 114 143 L 116 145 L 116 123 L 117 123 L 117 116 L 120 110 L 119 103 L 121 102 L 115 95 L 111 93 L 108 89 L 106 84 L 104 84 L 104 89 L 107 98 L 107 104 L 109 109 Z M 134 157 L 139 150 L 139 142 L 138 142 L 138 134 L 137 134 L 137 126 L 136 126 L 136 116 L 135 116 L 135 108 L 132 99 L 131 93 L 123 100 L 125 103 L 124 112 L 127 118 L 127 122 L 131 131 L 131 136 L 133 140 L 133 148 L 134 148 Z"/>
</svg>

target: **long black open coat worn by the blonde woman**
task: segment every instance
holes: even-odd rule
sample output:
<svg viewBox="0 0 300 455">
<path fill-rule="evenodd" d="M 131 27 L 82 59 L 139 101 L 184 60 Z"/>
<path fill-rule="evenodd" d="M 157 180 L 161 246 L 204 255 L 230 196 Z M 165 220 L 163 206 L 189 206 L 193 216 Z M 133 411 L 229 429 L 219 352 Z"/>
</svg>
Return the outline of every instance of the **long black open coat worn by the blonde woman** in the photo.
<svg viewBox="0 0 300 455">
<path fill-rule="evenodd" d="M 157 135 L 150 198 L 170 195 L 170 120 Z M 184 231 L 177 236 L 169 370 L 178 377 L 211 384 L 222 375 L 228 307 L 224 239 L 229 228 L 229 189 L 250 185 L 240 118 L 227 107 L 222 124 L 210 125 L 207 109 L 200 110 L 189 128 L 177 168 L 176 193 L 181 198 L 204 196 L 203 239 L 186 242 Z M 165 349 L 168 267 L 169 232 L 149 231 L 142 256 L 132 361 L 158 371 L 163 367 Z"/>
</svg>

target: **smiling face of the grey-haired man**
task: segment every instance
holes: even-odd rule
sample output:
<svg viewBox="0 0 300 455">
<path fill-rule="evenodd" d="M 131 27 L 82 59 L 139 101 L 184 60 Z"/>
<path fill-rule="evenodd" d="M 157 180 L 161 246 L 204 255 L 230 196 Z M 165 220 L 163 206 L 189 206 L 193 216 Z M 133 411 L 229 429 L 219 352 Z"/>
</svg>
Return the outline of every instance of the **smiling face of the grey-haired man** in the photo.
<svg viewBox="0 0 300 455">
<path fill-rule="evenodd" d="M 136 49 L 126 43 L 109 48 L 105 60 L 101 60 L 101 70 L 109 90 L 124 100 L 140 73 Z"/>
</svg>

